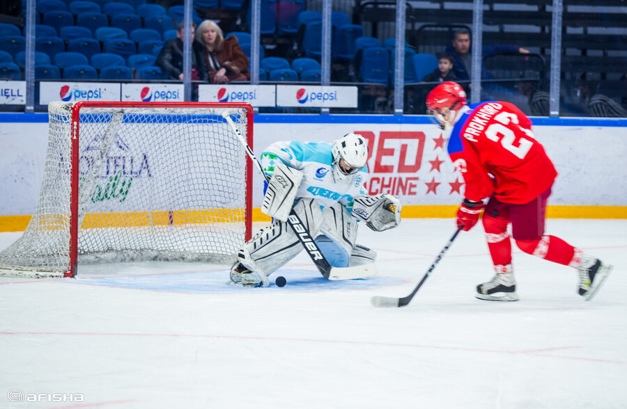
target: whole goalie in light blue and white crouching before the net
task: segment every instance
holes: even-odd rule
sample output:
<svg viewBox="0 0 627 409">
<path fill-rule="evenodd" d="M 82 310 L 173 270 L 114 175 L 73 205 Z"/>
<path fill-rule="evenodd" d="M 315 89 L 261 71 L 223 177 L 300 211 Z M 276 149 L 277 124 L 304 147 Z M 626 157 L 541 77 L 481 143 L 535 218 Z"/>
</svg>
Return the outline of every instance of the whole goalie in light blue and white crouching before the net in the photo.
<svg viewBox="0 0 627 409">
<path fill-rule="evenodd" d="M 229 284 L 267 287 L 268 276 L 302 249 L 287 223 L 291 209 L 334 267 L 372 264 L 376 252 L 355 242 L 359 222 L 376 232 L 401 221 L 401 202 L 392 195 L 366 195 L 368 143 L 346 134 L 334 143 L 279 141 L 261 154 L 269 178 L 261 211 L 272 224 L 238 252 Z"/>
</svg>

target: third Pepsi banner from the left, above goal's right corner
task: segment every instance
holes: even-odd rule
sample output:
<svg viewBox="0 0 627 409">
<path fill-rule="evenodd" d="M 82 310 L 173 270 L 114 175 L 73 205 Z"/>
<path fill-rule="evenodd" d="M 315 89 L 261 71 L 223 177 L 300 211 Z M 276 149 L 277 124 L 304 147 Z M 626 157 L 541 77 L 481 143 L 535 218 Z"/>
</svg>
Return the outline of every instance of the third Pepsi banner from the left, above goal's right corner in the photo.
<svg viewBox="0 0 627 409">
<path fill-rule="evenodd" d="M 248 102 L 252 106 L 276 106 L 275 86 L 199 85 L 199 102 Z"/>
</svg>

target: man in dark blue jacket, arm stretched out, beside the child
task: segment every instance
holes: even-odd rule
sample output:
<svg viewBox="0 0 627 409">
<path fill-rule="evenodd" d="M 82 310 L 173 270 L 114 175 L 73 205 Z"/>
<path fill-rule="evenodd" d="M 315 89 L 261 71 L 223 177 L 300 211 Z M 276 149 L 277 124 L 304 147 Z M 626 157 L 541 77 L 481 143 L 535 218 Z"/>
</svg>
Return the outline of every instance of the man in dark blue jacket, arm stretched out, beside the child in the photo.
<svg viewBox="0 0 627 409">
<path fill-rule="evenodd" d="M 497 56 L 502 54 L 529 54 L 529 50 L 518 45 L 484 45 L 482 47 L 483 58 L 490 56 Z M 444 51 L 446 54 L 451 54 L 454 58 L 453 72 L 458 80 L 469 80 L 470 66 L 472 56 L 470 54 L 470 32 L 467 29 L 460 29 L 455 31 L 453 35 L 453 42 Z M 481 79 L 494 79 L 494 76 L 486 69 L 486 66 L 481 63 Z"/>
</svg>

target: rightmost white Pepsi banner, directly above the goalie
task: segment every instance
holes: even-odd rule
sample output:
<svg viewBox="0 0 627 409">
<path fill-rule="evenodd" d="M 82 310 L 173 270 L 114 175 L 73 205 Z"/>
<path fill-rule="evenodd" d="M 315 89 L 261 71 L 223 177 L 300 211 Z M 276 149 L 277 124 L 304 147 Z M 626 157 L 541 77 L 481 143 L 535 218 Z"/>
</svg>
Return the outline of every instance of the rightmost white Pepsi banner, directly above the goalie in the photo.
<svg viewBox="0 0 627 409">
<path fill-rule="evenodd" d="M 357 87 L 279 85 L 277 106 L 357 108 Z"/>
</svg>

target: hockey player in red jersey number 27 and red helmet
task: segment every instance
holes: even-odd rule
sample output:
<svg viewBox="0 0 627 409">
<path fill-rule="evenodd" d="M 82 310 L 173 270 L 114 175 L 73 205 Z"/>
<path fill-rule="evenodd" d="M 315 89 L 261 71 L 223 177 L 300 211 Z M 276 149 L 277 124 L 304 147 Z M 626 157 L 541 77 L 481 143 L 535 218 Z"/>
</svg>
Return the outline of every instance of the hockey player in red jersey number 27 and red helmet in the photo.
<svg viewBox="0 0 627 409">
<path fill-rule="evenodd" d="M 511 224 L 511 236 L 520 250 L 577 268 L 579 294 L 590 300 L 612 266 L 545 234 L 546 203 L 557 171 L 534 138 L 531 120 L 509 102 L 467 105 L 463 88 L 451 81 L 433 88 L 426 106 L 449 139 L 449 156 L 464 178 L 458 227 L 470 230 L 483 210 L 496 275 L 477 286 L 477 298 L 518 300 L 507 232 Z"/>
</svg>

